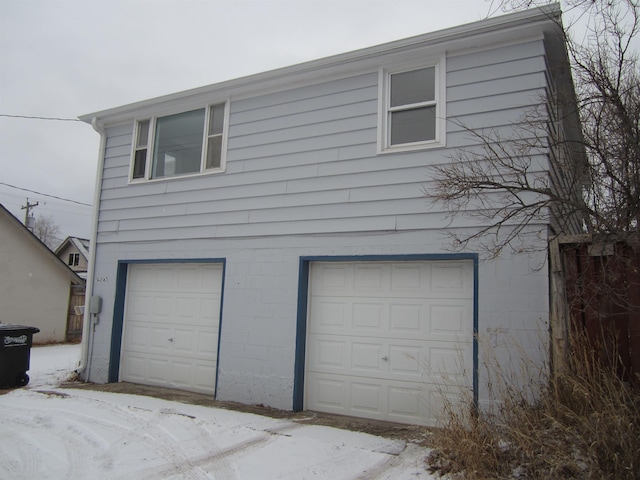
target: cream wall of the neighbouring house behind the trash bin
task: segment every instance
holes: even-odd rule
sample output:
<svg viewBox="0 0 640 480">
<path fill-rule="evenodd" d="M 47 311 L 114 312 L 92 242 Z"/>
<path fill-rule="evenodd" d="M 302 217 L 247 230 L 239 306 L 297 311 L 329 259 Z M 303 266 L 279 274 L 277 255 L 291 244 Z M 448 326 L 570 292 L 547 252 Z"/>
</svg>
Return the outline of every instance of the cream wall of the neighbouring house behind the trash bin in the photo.
<svg viewBox="0 0 640 480">
<path fill-rule="evenodd" d="M 0 205 L 0 322 L 40 329 L 34 343 L 64 342 L 70 296 L 84 280 Z"/>
</svg>

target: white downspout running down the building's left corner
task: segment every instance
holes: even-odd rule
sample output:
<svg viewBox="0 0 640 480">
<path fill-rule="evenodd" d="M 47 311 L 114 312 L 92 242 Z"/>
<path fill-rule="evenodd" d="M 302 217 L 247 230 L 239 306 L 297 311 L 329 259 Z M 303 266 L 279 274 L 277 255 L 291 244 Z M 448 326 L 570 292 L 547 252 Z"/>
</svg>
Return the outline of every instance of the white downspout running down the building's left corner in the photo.
<svg viewBox="0 0 640 480">
<path fill-rule="evenodd" d="M 104 170 L 104 155 L 107 144 L 107 136 L 104 128 L 98 124 L 98 119 L 93 117 L 91 126 L 100 134 L 100 153 L 98 155 L 98 167 L 96 171 L 96 185 L 93 198 L 93 224 L 91 226 L 91 239 L 89 246 L 89 265 L 87 268 L 87 287 L 85 293 L 85 309 L 82 323 L 82 353 L 80 355 L 80 364 L 76 369 L 76 373 L 84 380 L 89 380 L 91 371 L 91 351 L 93 350 L 93 328 L 97 320 L 96 315 L 89 312 L 88 301 L 93 295 L 94 271 L 96 264 L 96 250 L 98 238 L 98 212 L 100 210 L 100 191 L 102 190 L 102 175 Z"/>
</svg>

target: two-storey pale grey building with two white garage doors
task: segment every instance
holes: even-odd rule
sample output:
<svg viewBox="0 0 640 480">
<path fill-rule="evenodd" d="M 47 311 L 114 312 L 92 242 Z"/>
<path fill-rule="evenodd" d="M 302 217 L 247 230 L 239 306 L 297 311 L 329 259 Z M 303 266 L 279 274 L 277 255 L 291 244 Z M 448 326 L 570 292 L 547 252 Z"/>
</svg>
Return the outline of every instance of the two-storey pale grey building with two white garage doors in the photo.
<svg viewBox="0 0 640 480">
<path fill-rule="evenodd" d="M 83 377 L 433 424 L 444 397 L 491 400 L 488 363 L 543 365 L 545 234 L 495 260 L 454 251 L 446 233 L 479 220 L 451 223 L 423 191 L 430 165 L 473 146 L 460 123 L 508 133 L 545 92 L 573 91 L 559 17 L 81 117 L 102 136 Z"/>
</svg>

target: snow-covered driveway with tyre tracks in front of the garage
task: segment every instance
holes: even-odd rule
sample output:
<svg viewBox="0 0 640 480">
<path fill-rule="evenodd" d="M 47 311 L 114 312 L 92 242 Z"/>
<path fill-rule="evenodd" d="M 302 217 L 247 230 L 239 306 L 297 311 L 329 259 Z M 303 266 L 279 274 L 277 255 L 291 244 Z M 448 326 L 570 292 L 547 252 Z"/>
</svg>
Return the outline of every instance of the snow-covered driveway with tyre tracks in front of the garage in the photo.
<svg viewBox="0 0 640 480">
<path fill-rule="evenodd" d="M 0 394 L 4 479 L 435 479 L 412 443 L 152 397 L 56 388 L 80 346 L 31 349 Z M 0 393 L 3 393 L 0 391 Z"/>
</svg>

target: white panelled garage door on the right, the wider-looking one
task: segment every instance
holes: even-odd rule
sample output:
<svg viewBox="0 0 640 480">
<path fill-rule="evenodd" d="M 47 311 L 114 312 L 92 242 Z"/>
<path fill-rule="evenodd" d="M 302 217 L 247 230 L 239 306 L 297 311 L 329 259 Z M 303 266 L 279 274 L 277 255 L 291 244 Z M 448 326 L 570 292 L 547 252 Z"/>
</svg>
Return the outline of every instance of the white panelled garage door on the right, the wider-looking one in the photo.
<svg viewBox="0 0 640 480">
<path fill-rule="evenodd" d="M 433 425 L 472 393 L 471 261 L 314 263 L 305 408 Z"/>
</svg>

